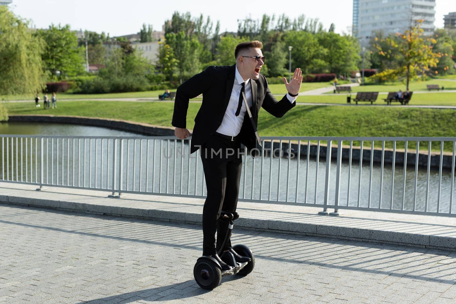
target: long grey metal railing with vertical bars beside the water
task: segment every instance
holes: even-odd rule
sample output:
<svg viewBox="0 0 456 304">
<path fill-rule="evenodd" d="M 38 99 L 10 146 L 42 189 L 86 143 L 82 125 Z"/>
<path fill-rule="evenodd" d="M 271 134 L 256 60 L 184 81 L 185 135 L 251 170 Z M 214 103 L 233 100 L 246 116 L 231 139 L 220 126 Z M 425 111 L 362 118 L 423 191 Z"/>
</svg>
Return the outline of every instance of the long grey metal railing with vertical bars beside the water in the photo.
<svg viewBox="0 0 456 304">
<path fill-rule="evenodd" d="M 0 137 L 0 181 L 40 189 L 105 190 L 112 196 L 206 195 L 200 152 L 189 153 L 191 139 Z M 456 138 L 264 137 L 262 141 L 264 149 L 257 157 L 244 148 L 240 200 L 318 206 L 321 213 L 334 208 L 331 214 L 356 209 L 456 215 Z M 437 151 L 432 150 L 435 144 L 440 145 Z M 420 150 L 423 145 L 427 149 Z"/>
</svg>

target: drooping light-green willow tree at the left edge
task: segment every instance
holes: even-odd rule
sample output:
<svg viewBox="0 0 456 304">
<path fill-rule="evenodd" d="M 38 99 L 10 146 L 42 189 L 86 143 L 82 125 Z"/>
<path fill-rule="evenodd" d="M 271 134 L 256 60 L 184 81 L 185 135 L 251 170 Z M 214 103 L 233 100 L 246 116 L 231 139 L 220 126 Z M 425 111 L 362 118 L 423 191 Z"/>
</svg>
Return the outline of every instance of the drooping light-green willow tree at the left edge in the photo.
<svg viewBox="0 0 456 304">
<path fill-rule="evenodd" d="M 27 21 L 0 6 L 0 94 L 36 93 L 44 88 L 43 47 Z"/>
</svg>

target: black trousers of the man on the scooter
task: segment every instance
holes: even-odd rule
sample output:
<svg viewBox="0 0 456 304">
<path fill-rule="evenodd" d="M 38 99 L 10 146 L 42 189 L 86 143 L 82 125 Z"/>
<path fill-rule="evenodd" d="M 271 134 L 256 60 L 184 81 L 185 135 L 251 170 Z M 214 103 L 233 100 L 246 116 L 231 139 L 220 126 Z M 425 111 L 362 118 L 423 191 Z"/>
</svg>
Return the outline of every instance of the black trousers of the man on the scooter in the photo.
<svg viewBox="0 0 456 304">
<path fill-rule="evenodd" d="M 241 144 L 212 135 L 201 149 L 207 197 L 202 211 L 203 255 L 212 255 L 222 246 L 228 222 L 218 222 L 220 211 L 236 211 L 241 178 Z M 217 231 L 217 246 L 215 232 Z M 226 248 L 231 248 L 228 240 Z"/>
</svg>

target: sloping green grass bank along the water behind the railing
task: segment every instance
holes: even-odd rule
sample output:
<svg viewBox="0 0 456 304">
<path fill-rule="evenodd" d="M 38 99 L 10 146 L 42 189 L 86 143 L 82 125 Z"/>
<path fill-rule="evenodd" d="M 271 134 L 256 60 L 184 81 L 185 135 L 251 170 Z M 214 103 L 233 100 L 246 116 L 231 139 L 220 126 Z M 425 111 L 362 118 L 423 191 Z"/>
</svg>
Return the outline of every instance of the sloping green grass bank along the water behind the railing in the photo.
<svg viewBox="0 0 456 304">
<path fill-rule="evenodd" d="M 60 102 L 59 107 L 53 110 L 43 110 L 28 103 L 5 103 L 5 106 L 10 114 L 88 116 L 171 126 L 174 104 L 73 101 Z M 189 104 L 187 128 L 193 128 L 193 119 L 199 107 L 198 103 Z M 310 105 L 295 107 L 282 119 L 277 119 L 263 110 L 260 112 L 258 129 L 262 136 L 453 137 L 456 136 L 454 121 L 456 111 L 452 109 Z M 365 143 L 367 146 L 369 144 Z M 398 143 L 398 149 L 401 144 Z M 446 144 L 445 150 L 451 151 L 452 144 Z M 386 147 L 391 148 L 392 143 L 386 143 Z M 422 143 L 421 147 L 427 147 L 427 144 Z M 433 147 L 439 149 L 437 144 Z M 409 149 L 414 149 L 413 143 L 409 143 Z"/>
</svg>

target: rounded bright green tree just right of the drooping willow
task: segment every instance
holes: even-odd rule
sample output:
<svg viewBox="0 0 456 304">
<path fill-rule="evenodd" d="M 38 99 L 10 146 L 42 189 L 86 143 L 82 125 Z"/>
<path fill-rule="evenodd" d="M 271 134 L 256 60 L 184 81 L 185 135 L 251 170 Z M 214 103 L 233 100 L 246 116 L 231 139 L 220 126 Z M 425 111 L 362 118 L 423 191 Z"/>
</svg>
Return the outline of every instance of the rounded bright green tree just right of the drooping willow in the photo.
<svg viewBox="0 0 456 304">
<path fill-rule="evenodd" d="M 36 35 L 46 43 L 41 58 L 48 77 L 57 71 L 63 76 L 76 76 L 84 72 L 84 48 L 78 47 L 78 38 L 70 26 L 49 26 L 47 30 L 38 30 Z"/>
</svg>

